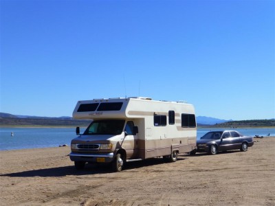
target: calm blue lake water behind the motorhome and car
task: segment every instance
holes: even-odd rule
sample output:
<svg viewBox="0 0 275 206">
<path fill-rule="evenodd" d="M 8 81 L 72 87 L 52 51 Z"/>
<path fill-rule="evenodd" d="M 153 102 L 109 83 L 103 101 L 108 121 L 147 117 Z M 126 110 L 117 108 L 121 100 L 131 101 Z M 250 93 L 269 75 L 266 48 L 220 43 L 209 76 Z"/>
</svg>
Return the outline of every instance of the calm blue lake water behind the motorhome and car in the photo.
<svg viewBox="0 0 275 206">
<path fill-rule="evenodd" d="M 83 132 L 85 128 L 81 128 Z M 198 128 L 197 139 L 210 130 L 222 128 Z M 254 137 L 275 136 L 275 128 L 236 128 L 243 135 Z M 11 136 L 11 133 L 14 136 Z M 76 136 L 75 128 L 0 128 L 0 150 L 17 150 L 25 148 L 50 148 L 63 144 L 69 146 Z"/>
</svg>

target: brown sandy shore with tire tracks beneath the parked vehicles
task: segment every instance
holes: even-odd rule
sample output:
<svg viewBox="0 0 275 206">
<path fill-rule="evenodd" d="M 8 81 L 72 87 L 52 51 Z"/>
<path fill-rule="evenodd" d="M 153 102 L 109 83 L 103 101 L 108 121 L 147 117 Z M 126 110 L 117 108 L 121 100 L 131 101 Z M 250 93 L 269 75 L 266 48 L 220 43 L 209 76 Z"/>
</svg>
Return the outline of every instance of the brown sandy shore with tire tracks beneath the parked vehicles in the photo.
<svg viewBox="0 0 275 206">
<path fill-rule="evenodd" d="M 77 171 L 69 147 L 0 152 L 1 205 L 275 205 L 275 138 L 248 152 Z"/>
</svg>

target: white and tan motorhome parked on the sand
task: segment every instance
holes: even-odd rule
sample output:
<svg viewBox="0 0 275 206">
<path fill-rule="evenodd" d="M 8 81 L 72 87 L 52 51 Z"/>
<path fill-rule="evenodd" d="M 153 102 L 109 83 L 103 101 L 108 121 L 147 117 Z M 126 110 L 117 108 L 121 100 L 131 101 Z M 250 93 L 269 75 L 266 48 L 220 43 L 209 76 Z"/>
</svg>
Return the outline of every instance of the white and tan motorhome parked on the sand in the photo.
<svg viewBox="0 0 275 206">
<path fill-rule="evenodd" d="M 177 161 L 196 149 L 195 109 L 186 102 L 151 98 L 109 98 L 79 101 L 75 119 L 92 119 L 85 132 L 72 139 L 69 157 L 76 169 L 86 163 L 110 163 L 120 172 L 126 161 L 163 157 Z"/>
</svg>

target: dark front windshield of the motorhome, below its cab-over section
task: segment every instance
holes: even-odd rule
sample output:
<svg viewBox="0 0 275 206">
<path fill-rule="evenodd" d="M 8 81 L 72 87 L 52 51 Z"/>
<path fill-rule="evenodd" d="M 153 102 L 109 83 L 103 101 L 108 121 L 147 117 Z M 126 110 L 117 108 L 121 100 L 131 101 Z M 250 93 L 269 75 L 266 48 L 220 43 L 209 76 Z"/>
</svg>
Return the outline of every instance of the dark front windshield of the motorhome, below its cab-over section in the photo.
<svg viewBox="0 0 275 206">
<path fill-rule="evenodd" d="M 102 119 L 91 122 L 83 135 L 120 135 L 125 121 L 122 119 Z"/>
</svg>

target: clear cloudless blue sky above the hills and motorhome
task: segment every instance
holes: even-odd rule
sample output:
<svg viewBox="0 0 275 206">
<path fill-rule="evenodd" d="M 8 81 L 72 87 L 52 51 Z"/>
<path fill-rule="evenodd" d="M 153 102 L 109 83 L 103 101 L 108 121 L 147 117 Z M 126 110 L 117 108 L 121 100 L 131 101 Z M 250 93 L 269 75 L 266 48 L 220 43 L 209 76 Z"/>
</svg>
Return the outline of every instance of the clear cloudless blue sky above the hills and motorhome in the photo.
<svg viewBox="0 0 275 206">
<path fill-rule="evenodd" d="M 3 1 L 0 111 L 72 116 L 78 100 L 186 100 L 275 117 L 275 1 Z"/>
</svg>

